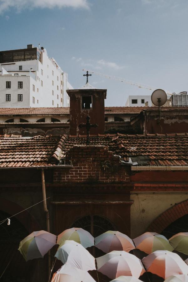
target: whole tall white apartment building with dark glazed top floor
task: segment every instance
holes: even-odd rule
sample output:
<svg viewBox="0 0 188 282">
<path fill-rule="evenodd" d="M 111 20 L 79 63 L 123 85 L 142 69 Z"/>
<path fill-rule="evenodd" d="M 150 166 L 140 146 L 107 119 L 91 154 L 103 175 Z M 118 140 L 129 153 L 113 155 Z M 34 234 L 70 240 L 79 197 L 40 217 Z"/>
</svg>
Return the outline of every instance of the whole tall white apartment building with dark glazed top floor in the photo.
<svg viewBox="0 0 188 282">
<path fill-rule="evenodd" d="M 46 49 L 0 51 L 0 107 L 69 107 L 67 89 L 73 89 Z"/>
</svg>

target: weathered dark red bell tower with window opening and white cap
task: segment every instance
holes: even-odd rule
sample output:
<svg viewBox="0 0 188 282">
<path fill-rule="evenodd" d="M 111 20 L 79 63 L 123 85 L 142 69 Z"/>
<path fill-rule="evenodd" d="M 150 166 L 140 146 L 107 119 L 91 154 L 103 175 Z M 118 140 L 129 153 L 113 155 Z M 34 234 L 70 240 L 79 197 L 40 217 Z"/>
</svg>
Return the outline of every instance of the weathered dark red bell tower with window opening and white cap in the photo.
<svg viewBox="0 0 188 282">
<path fill-rule="evenodd" d="M 70 97 L 70 135 L 86 135 L 86 128 L 79 128 L 86 123 L 87 116 L 90 123 L 97 123 L 97 128 L 91 128 L 90 134 L 104 134 L 104 99 L 107 89 L 95 89 L 86 83 L 81 89 L 66 90 Z"/>
</svg>

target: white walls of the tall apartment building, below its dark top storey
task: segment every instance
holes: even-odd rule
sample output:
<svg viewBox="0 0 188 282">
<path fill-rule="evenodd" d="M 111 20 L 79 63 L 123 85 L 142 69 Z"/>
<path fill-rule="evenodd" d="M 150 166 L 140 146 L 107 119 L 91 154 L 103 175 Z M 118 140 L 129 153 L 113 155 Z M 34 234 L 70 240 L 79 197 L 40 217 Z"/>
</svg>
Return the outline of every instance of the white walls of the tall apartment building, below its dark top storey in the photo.
<svg viewBox="0 0 188 282">
<path fill-rule="evenodd" d="M 22 70 L 19 70 L 19 66 L 22 66 Z M 2 76 L 2 67 L 12 76 Z M 19 94 L 17 81 L 25 81 L 25 76 L 29 81 L 27 84 L 23 83 L 23 89 L 20 89 L 24 93 L 23 102 L 16 102 L 15 94 Z M 6 89 L 6 81 L 8 81 L 6 77 L 13 79 L 11 89 L 8 90 L 10 94 L 14 94 L 14 100 L 11 99 L 8 105 L 4 104 L 4 94 L 7 90 L 2 90 Z M 67 74 L 53 58 L 48 57 L 45 49 L 41 52 L 41 62 L 30 60 L 0 65 L 0 107 L 69 107 L 67 87 L 72 89 L 67 81 Z"/>
</svg>

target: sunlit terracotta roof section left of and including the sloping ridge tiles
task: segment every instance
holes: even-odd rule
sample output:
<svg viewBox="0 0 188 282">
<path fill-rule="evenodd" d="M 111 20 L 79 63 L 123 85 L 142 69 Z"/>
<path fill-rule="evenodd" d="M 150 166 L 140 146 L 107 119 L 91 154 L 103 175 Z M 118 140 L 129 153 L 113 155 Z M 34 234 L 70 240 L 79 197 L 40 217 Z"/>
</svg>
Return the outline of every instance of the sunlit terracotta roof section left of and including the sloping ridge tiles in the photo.
<svg viewBox="0 0 188 282">
<path fill-rule="evenodd" d="M 64 138 L 0 135 L 0 167 L 53 165 L 60 158 Z"/>
</svg>

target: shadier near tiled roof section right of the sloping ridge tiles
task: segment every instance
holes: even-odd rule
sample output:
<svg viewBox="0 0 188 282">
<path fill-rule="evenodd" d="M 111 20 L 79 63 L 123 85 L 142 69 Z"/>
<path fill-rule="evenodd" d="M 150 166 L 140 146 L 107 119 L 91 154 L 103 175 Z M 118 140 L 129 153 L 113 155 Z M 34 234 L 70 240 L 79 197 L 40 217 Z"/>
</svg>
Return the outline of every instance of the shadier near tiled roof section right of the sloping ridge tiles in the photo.
<svg viewBox="0 0 188 282">
<path fill-rule="evenodd" d="M 69 136 L 65 139 L 63 154 L 73 145 L 85 144 L 86 137 Z M 138 162 L 138 165 L 188 165 L 187 133 L 91 135 L 90 144 L 107 146 L 114 154 L 120 155 L 125 162 L 131 158 L 131 161 Z"/>
</svg>

